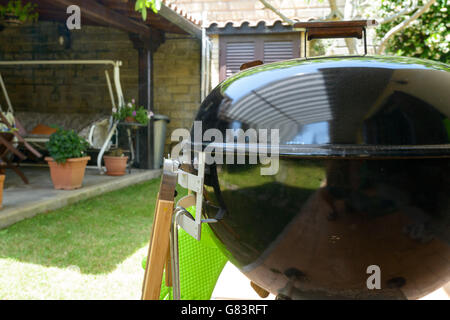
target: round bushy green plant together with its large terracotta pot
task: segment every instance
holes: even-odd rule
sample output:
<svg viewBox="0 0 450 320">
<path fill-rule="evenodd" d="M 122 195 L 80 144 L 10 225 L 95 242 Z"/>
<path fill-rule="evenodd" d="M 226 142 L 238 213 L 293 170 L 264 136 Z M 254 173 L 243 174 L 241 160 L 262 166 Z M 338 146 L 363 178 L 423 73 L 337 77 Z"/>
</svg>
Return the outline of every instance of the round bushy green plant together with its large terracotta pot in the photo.
<svg viewBox="0 0 450 320">
<path fill-rule="evenodd" d="M 73 190 L 81 188 L 86 165 L 91 157 L 85 152 L 89 144 L 73 130 L 58 128 L 50 136 L 46 157 L 55 189 Z"/>
</svg>

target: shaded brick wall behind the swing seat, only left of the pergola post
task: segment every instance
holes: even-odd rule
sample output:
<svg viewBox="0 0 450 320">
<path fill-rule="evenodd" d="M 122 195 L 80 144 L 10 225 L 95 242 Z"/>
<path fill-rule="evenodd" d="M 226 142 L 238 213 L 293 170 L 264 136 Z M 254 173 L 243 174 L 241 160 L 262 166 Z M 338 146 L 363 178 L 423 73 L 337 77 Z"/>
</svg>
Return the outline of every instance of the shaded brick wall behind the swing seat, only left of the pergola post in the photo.
<svg viewBox="0 0 450 320">
<path fill-rule="evenodd" d="M 81 30 L 70 33 L 71 46 L 66 48 L 59 43 L 60 29 L 60 24 L 52 22 L 5 28 L 0 32 L 0 59 L 121 60 L 124 94 L 126 97 L 137 96 L 138 55 L 127 33 L 112 28 L 83 26 Z M 112 68 L 108 68 L 112 77 Z M 1 69 L 15 110 L 45 113 L 109 113 L 111 101 L 104 70 L 103 66 L 15 66 Z"/>
</svg>

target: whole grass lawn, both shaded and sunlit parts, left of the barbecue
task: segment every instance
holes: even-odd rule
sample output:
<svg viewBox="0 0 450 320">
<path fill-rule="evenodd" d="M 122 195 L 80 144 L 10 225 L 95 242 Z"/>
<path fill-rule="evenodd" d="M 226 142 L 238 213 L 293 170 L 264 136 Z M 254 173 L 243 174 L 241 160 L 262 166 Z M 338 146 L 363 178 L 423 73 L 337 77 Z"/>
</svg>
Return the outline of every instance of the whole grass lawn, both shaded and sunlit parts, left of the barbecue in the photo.
<svg viewBox="0 0 450 320">
<path fill-rule="evenodd" d="M 0 230 L 0 299 L 140 299 L 159 183 Z"/>
</svg>

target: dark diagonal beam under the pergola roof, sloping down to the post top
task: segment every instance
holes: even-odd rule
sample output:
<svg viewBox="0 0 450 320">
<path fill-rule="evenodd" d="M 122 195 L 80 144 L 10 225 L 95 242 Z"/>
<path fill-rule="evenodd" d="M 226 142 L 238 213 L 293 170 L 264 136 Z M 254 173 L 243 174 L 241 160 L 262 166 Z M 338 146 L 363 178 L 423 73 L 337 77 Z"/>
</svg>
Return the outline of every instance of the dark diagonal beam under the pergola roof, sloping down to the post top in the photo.
<svg viewBox="0 0 450 320">
<path fill-rule="evenodd" d="M 51 0 L 51 2 L 66 8 L 71 5 L 77 5 L 81 9 L 82 17 L 84 16 L 89 20 L 99 21 L 126 32 L 139 34 L 144 39 L 159 36 L 159 33 L 153 34 L 152 29 L 144 23 L 130 19 L 128 16 L 105 7 L 95 0 Z"/>
</svg>

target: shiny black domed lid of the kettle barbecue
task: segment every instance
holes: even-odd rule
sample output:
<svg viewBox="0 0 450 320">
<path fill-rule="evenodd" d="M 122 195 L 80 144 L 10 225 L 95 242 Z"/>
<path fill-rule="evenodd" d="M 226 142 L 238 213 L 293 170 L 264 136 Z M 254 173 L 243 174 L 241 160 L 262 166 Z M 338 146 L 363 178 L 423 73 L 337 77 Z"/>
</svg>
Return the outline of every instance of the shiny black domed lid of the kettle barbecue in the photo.
<svg viewBox="0 0 450 320">
<path fill-rule="evenodd" d="M 203 133 L 216 128 L 224 137 L 227 129 L 277 130 L 281 154 L 449 155 L 449 71 L 384 56 L 272 63 L 221 83 L 196 120 Z"/>
</svg>

